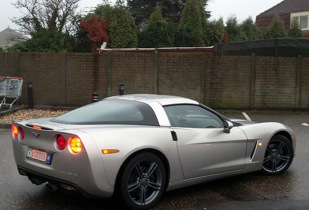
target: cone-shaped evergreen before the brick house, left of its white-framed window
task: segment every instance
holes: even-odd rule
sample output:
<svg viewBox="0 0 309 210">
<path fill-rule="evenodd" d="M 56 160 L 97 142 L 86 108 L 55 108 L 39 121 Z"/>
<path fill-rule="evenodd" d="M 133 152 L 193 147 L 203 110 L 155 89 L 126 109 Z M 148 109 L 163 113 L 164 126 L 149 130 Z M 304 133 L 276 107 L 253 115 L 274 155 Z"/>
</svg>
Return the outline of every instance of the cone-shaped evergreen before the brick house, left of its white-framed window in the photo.
<svg viewBox="0 0 309 210">
<path fill-rule="evenodd" d="M 276 15 L 272 23 L 269 27 L 265 30 L 264 38 L 280 38 L 280 37 L 286 37 L 287 34 L 285 32 L 285 26 L 283 20 L 280 19 L 278 15 Z"/>
</svg>

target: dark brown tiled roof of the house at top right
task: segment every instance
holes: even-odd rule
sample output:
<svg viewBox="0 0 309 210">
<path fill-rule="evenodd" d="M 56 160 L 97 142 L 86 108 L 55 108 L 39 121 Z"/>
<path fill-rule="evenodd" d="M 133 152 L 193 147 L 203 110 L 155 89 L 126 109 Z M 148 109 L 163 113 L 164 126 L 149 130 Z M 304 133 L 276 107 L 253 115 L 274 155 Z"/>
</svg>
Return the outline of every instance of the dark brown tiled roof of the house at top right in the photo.
<svg viewBox="0 0 309 210">
<path fill-rule="evenodd" d="M 309 0 L 283 0 L 272 8 L 259 14 L 257 18 L 307 11 L 309 11 Z"/>
</svg>

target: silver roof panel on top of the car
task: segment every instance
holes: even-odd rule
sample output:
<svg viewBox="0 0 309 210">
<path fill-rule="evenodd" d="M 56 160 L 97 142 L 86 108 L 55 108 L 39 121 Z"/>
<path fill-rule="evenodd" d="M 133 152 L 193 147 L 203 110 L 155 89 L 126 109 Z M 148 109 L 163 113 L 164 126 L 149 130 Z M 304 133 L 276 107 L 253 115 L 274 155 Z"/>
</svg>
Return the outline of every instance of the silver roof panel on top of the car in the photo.
<svg viewBox="0 0 309 210">
<path fill-rule="evenodd" d="M 179 96 L 169 96 L 169 95 L 154 95 L 154 94 L 133 94 L 133 95 L 122 95 L 122 96 L 113 96 L 107 99 L 123 99 L 131 101 L 139 101 L 147 103 L 149 102 L 158 102 L 163 105 L 174 105 L 174 104 L 194 104 L 198 105 L 199 103 Z"/>
</svg>

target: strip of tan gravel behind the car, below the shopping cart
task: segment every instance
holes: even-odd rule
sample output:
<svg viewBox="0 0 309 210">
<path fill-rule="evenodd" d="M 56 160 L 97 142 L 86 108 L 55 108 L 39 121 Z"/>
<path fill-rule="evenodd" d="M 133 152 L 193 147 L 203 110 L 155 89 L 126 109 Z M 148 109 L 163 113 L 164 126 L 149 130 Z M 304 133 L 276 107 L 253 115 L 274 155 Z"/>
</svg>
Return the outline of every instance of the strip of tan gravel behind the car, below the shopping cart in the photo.
<svg viewBox="0 0 309 210">
<path fill-rule="evenodd" d="M 0 117 L 0 123 L 13 123 L 34 118 L 57 117 L 67 112 L 69 112 L 69 110 L 23 109 Z"/>
</svg>

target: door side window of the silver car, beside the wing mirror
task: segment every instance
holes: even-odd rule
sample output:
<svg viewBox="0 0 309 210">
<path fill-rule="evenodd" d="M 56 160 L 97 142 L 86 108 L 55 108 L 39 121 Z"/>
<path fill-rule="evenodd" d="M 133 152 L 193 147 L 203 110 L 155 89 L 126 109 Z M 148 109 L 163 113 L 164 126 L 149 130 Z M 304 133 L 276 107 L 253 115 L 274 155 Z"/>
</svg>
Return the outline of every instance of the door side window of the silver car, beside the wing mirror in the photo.
<svg viewBox="0 0 309 210">
<path fill-rule="evenodd" d="M 172 127 L 223 128 L 223 121 L 198 105 L 164 106 Z"/>
</svg>

